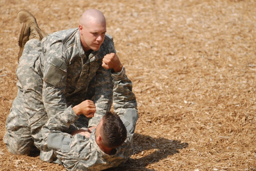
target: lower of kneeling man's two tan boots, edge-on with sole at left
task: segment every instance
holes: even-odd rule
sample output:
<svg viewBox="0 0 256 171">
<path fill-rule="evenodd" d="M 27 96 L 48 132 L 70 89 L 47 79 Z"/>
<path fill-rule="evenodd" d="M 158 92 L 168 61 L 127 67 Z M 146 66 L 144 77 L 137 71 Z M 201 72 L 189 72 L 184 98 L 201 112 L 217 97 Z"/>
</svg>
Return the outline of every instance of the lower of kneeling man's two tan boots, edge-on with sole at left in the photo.
<svg viewBox="0 0 256 171">
<path fill-rule="evenodd" d="M 29 35 L 30 35 L 29 25 L 25 23 L 21 23 L 20 36 L 19 36 L 20 51 L 18 53 L 18 61 L 22 55 L 25 44 L 29 41 Z"/>
</svg>

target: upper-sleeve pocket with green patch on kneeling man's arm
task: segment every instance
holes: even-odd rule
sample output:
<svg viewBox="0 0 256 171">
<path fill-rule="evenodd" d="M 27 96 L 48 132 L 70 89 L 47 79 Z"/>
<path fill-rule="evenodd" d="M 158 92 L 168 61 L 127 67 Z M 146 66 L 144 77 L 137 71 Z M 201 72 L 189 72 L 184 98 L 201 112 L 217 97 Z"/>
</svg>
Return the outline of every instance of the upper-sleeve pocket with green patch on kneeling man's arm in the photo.
<svg viewBox="0 0 256 171">
<path fill-rule="evenodd" d="M 54 58 L 50 63 L 50 67 L 44 77 L 44 81 L 56 87 L 61 86 L 64 78 L 67 75 L 67 72 L 65 71 L 66 68 L 67 64 L 65 61 L 59 58 Z"/>
</svg>

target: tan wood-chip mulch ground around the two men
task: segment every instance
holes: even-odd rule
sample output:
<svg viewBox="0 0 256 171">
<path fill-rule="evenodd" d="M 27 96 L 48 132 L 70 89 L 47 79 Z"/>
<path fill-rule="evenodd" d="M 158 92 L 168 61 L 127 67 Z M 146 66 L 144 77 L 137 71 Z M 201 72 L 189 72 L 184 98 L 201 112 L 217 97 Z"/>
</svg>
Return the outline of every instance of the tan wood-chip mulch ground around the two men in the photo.
<svg viewBox="0 0 256 171">
<path fill-rule="evenodd" d="M 0 171 L 65 170 L 3 143 L 16 96 L 16 15 L 30 10 L 47 33 L 78 27 L 101 10 L 133 82 L 134 153 L 108 170 L 255 170 L 256 1 L 0 1 Z"/>
</svg>

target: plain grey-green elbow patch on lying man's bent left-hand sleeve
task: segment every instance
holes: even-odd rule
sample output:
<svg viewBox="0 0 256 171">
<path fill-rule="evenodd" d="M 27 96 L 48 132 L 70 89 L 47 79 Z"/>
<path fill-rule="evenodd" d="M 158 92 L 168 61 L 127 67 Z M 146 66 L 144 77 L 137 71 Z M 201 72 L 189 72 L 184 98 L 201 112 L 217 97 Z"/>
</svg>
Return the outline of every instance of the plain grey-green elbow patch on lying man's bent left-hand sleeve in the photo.
<svg viewBox="0 0 256 171">
<path fill-rule="evenodd" d="M 63 153 L 69 153 L 69 147 L 72 142 L 72 138 L 64 137 L 59 134 L 50 134 L 47 140 L 49 148 L 61 150 Z"/>
</svg>

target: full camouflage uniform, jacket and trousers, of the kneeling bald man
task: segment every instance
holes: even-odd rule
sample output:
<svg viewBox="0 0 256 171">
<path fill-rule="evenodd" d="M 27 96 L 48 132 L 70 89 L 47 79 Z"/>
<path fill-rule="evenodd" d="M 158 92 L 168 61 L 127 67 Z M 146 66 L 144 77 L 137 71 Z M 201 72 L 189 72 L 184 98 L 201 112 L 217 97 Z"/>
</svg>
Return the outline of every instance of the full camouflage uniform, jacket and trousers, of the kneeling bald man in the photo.
<svg viewBox="0 0 256 171">
<path fill-rule="evenodd" d="M 48 118 L 87 99 L 95 103 L 94 117 L 79 117 L 69 131 L 97 126 L 112 104 L 111 73 L 101 66 L 109 53 L 116 52 L 112 37 L 106 34 L 100 49 L 86 55 L 78 28 L 52 33 L 41 42 L 28 41 L 16 70 L 18 94 L 6 121 L 8 150 L 28 154 L 33 143 L 40 149 L 41 128 Z"/>
</svg>

